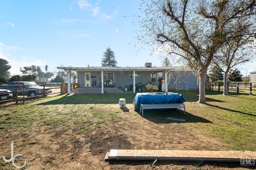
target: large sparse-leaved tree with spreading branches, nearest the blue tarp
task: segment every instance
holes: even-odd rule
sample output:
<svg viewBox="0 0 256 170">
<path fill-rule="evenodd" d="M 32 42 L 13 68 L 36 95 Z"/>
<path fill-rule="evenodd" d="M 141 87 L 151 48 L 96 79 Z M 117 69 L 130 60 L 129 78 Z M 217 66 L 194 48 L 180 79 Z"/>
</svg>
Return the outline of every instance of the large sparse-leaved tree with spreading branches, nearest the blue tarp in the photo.
<svg viewBox="0 0 256 170">
<path fill-rule="evenodd" d="M 142 33 L 137 38 L 152 50 L 169 45 L 174 61 L 178 56 L 197 72 L 198 102 L 205 103 L 208 66 L 234 36 L 255 35 L 255 4 L 255 0 L 142 0 L 140 9 L 146 16 L 139 21 Z"/>
</svg>

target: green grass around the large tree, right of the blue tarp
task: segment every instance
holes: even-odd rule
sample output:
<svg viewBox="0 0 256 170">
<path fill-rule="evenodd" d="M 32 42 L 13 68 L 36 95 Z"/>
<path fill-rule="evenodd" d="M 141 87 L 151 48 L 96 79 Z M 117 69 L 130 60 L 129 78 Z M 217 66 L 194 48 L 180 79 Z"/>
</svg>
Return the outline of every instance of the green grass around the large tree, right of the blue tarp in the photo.
<svg viewBox="0 0 256 170">
<path fill-rule="evenodd" d="M 188 102 L 196 102 L 198 93 L 180 91 Z M 204 117 L 211 123 L 187 124 L 192 133 L 205 134 L 218 138 L 233 150 L 256 150 L 256 95 L 229 92 L 223 96 L 222 91 L 206 91 L 205 107 L 190 107 L 194 115 Z M 193 105 L 194 106 L 194 105 Z M 187 106 L 189 107 L 189 106 Z"/>
</svg>

